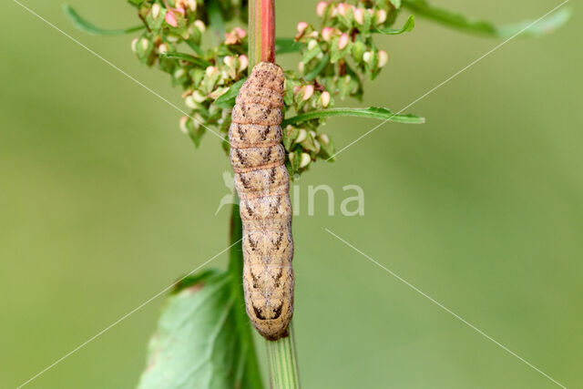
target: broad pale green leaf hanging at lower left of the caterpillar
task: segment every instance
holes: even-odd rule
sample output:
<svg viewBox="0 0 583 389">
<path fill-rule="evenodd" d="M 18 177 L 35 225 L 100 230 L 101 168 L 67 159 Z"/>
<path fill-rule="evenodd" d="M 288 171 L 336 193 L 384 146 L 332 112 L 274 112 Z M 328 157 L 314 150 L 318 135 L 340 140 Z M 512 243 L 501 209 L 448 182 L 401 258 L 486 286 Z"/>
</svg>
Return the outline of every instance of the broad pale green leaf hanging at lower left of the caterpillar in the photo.
<svg viewBox="0 0 583 389">
<path fill-rule="evenodd" d="M 169 296 L 138 388 L 261 388 L 236 322 L 240 307 L 230 273 L 206 271 L 197 277 Z"/>
</svg>

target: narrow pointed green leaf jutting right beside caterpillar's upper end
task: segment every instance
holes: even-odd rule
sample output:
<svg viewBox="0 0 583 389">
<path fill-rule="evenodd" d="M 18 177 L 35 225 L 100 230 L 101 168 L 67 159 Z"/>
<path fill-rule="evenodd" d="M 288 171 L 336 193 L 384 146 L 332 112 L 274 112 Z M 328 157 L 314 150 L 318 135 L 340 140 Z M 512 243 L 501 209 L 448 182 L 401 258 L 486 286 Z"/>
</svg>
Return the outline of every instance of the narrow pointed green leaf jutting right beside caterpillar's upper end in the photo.
<svg viewBox="0 0 583 389">
<path fill-rule="evenodd" d="M 387 108 L 379 107 L 368 107 L 368 108 L 330 108 L 321 109 L 312 112 L 306 112 L 294 116 L 292 118 L 286 118 L 281 123 L 281 127 L 287 126 L 288 124 L 301 123 L 302 121 L 312 120 L 314 118 L 327 118 L 333 116 L 341 117 L 363 117 L 363 118 L 380 118 L 388 121 L 394 121 L 397 123 L 409 123 L 409 124 L 422 124 L 425 122 L 424 118 L 420 118 L 415 115 L 405 114 L 399 115 L 394 114 Z"/>
</svg>

